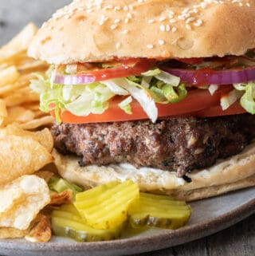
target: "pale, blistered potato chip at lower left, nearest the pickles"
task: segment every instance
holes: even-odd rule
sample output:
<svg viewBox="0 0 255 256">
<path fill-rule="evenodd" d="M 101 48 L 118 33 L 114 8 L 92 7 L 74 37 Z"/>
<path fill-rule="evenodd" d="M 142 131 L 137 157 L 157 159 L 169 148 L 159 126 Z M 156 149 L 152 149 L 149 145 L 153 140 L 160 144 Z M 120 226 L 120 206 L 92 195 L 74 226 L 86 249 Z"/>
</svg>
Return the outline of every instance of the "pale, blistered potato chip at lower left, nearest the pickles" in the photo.
<svg viewBox="0 0 255 256">
<path fill-rule="evenodd" d="M 7 210 L 3 204 L 0 205 L 0 226 L 26 230 L 38 212 L 50 202 L 49 187 L 36 175 L 24 175 L 0 190 L 6 202 L 14 198 L 14 194 L 9 192 L 15 189 L 18 192 L 15 203 Z"/>
</svg>

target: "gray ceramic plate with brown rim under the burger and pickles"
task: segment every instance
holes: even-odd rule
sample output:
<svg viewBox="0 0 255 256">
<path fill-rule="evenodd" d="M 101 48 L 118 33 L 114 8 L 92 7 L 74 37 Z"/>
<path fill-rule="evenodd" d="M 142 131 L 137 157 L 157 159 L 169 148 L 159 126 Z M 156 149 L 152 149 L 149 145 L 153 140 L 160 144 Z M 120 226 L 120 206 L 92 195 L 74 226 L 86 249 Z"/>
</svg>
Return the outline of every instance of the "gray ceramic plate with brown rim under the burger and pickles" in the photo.
<svg viewBox="0 0 255 256">
<path fill-rule="evenodd" d="M 179 230 L 151 230 L 110 242 L 78 243 L 53 238 L 52 242 L 39 244 L 23 239 L 1 240 L 0 254 L 20 256 L 22 252 L 22 255 L 37 256 L 114 256 L 176 246 L 213 234 L 252 215 L 255 212 L 255 187 L 190 204 L 193 211 L 190 222 Z"/>
</svg>

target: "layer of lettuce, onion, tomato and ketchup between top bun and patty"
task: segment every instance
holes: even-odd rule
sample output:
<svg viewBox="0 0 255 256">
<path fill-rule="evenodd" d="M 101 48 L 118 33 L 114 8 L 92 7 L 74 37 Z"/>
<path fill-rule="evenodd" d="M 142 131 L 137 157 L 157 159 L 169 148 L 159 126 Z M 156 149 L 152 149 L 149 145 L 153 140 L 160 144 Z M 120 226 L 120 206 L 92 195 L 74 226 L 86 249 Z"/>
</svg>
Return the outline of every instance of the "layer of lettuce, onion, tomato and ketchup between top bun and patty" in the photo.
<svg viewBox="0 0 255 256">
<path fill-rule="evenodd" d="M 218 114 L 255 113 L 253 87 L 254 51 L 241 57 L 210 57 L 155 61 L 123 59 L 108 63 L 84 63 L 52 67 L 38 74 L 32 89 L 41 94 L 41 110 L 52 112 L 57 122 L 88 123 L 120 120 L 106 112 L 120 108 L 123 120 L 151 119 L 191 113 L 222 106 Z M 190 95 L 210 93 L 210 105 L 185 106 Z M 217 93 L 217 100 L 214 94 Z M 237 112 L 224 112 L 239 101 Z M 190 101 L 190 100 L 189 100 Z M 213 101 L 213 102 L 212 102 Z M 139 104 L 137 116 L 135 105 Z M 113 106 L 114 105 L 114 106 Z M 242 107 L 242 108 L 241 108 Z M 162 113 L 162 108 L 167 112 Z M 175 109 L 182 111 L 175 111 Z M 243 109 L 244 108 L 244 109 Z M 236 109 L 236 108 L 235 108 Z M 105 118 L 105 115 L 108 118 Z M 205 114 L 205 111 L 203 112 Z M 66 116 L 76 118 L 66 119 Z M 115 117 L 116 116 L 116 119 Z M 210 115 L 209 115 L 210 116 Z M 100 120 L 102 117 L 102 120 Z"/>
</svg>

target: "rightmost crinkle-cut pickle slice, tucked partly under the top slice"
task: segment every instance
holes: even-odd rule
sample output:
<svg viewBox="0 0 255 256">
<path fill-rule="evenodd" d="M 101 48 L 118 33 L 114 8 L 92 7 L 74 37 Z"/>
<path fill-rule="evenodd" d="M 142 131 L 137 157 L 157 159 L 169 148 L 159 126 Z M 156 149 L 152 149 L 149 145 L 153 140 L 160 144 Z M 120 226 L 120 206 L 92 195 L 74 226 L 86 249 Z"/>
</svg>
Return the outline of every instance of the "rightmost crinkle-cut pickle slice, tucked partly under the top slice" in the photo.
<svg viewBox="0 0 255 256">
<path fill-rule="evenodd" d="M 167 195 L 140 193 L 139 200 L 128 210 L 129 223 L 134 228 L 157 226 L 177 229 L 190 219 L 190 206 Z"/>
</svg>

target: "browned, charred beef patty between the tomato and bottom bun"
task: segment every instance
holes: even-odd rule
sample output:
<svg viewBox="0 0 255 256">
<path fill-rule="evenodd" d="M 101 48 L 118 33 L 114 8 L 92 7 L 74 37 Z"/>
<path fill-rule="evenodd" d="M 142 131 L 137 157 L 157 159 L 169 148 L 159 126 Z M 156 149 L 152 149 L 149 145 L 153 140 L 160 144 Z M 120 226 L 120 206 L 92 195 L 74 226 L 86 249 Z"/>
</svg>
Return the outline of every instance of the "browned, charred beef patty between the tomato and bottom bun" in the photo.
<svg viewBox="0 0 255 256">
<path fill-rule="evenodd" d="M 55 124 L 55 148 L 88 164 L 131 163 L 181 177 L 241 152 L 255 136 L 255 116 L 182 117 L 103 124 Z"/>
</svg>

